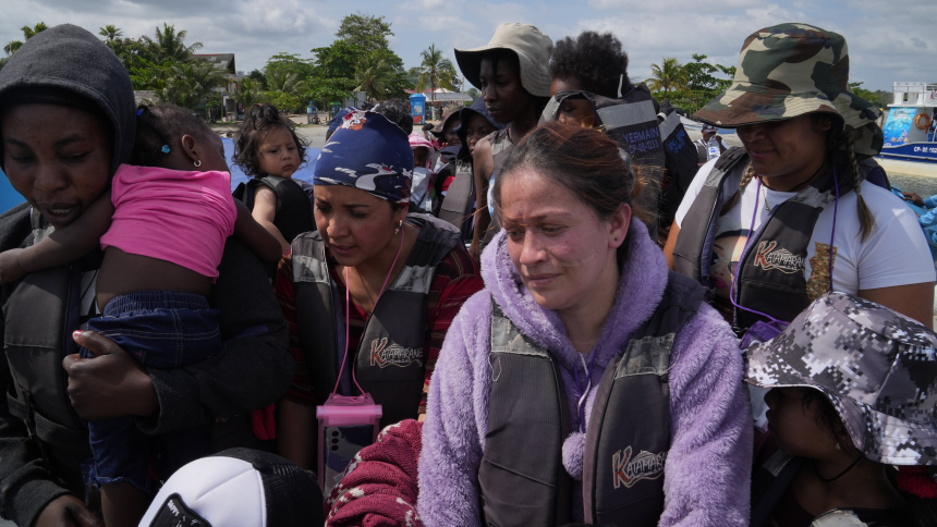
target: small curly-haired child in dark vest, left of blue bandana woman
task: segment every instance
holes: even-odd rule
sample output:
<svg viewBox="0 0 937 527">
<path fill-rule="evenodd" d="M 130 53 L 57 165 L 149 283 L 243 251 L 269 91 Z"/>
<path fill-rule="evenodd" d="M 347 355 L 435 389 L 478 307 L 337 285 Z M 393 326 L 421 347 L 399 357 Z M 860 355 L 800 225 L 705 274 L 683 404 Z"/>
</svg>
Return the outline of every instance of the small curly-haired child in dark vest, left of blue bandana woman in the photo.
<svg viewBox="0 0 937 527">
<path fill-rule="evenodd" d="M 234 142 L 234 163 L 254 179 L 239 187 L 235 197 L 280 242 L 283 253 L 294 237 L 316 230 L 313 186 L 292 179 L 305 154 L 305 142 L 275 106 L 254 105 L 247 110 Z"/>
</svg>

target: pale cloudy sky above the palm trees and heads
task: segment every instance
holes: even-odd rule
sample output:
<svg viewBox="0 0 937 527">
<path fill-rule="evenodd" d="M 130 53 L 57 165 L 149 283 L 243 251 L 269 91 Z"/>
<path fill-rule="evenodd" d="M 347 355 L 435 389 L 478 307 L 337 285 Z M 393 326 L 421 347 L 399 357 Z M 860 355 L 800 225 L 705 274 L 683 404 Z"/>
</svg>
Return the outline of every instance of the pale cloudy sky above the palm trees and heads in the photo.
<svg viewBox="0 0 937 527">
<path fill-rule="evenodd" d="M 890 90 L 892 83 L 937 82 L 937 3 L 934 0 L 3 0 L 0 42 L 42 21 L 94 33 L 114 24 L 124 36 L 151 35 L 163 22 L 187 29 L 203 53 L 236 54 L 239 70 L 263 68 L 277 52 L 311 57 L 334 39 L 342 16 L 362 12 L 392 23 L 391 48 L 407 68 L 430 44 L 453 60 L 454 47 L 485 45 L 502 22 L 534 24 L 557 40 L 584 29 L 614 33 L 644 79 L 662 57 L 693 53 L 734 65 L 752 32 L 780 22 L 807 22 L 847 37 L 851 81 Z"/>
</svg>

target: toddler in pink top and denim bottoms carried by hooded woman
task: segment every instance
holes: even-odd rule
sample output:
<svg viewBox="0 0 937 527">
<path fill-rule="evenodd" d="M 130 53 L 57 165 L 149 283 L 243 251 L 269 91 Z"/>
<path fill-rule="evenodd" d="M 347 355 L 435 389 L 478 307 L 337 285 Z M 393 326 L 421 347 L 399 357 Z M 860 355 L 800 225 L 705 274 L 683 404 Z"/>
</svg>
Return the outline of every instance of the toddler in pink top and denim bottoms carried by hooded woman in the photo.
<svg viewBox="0 0 937 527">
<path fill-rule="evenodd" d="M 188 110 L 139 107 L 131 164 L 122 164 L 106 193 L 73 223 L 35 245 L 0 254 L 0 282 L 63 266 L 105 249 L 97 277 L 100 318 L 88 330 L 111 339 L 147 368 L 173 369 L 221 350 L 219 311 L 208 295 L 229 236 L 277 261 L 277 241 L 231 198 L 221 139 Z M 81 350 L 82 358 L 94 354 Z M 105 523 L 136 525 L 146 510 L 150 457 L 168 478 L 208 453 L 206 427 L 150 438 L 125 416 L 88 422 L 101 486 Z"/>
</svg>

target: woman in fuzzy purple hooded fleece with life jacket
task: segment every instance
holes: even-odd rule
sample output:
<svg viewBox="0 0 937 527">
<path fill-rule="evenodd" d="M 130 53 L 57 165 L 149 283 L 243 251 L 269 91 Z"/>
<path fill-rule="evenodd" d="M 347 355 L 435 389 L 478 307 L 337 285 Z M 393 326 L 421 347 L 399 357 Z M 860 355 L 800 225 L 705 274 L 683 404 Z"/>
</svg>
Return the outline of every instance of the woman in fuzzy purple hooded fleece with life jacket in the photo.
<svg viewBox="0 0 937 527">
<path fill-rule="evenodd" d="M 485 290 L 468 299 L 452 322 L 430 384 L 419 458 L 419 516 L 427 526 L 487 523 L 507 527 L 522 522 L 504 517 L 518 518 L 526 513 L 519 516 L 508 512 L 500 523 L 492 516 L 518 507 L 532 511 L 527 517 L 544 517 L 540 513 L 552 507 L 557 512 L 547 516 L 549 520 L 526 523 L 562 525 L 585 517 L 618 524 L 608 518 L 628 517 L 628 511 L 596 517 L 595 510 L 584 506 L 584 502 L 592 503 L 593 497 L 601 500 L 603 491 L 611 491 L 611 478 L 606 485 L 594 476 L 607 462 L 614 465 L 622 457 L 616 452 L 613 457 L 599 458 L 595 467 L 586 467 L 585 479 L 594 485 L 586 486 L 584 498 L 583 444 L 589 444 L 588 438 L 595 439 L 591 420 L 609 426 L 609 416 L 603 420 L 593 413 L 597 394 L 606 402 L 610 399 L 599 389 L 606 366 L 622 354 L 631 335 L 655 315 L 666 290 L 670 291 L 668 281 L 679 283 L 680 279 L 668 273 L 664 255 L 643 222 L 631 221 L 631 197 L 640 185 L 635 185 L 633 172 L 619 156 L 616 143 L 600 132 L 561 124 L 540 127 L 519 145 L 502 174 L 495 198 L 506 230 L 483 254 Z M 495 333 L 492 305 L 502 311 L 496 310 L 496 318 L 502 316 L 510 321 L 498 326 Z M 515 487 L 527 489 L 537 477 L 518 476 L 519 471 L 499 476 L 503 471 L 498 469 L 504 467 L 491 461 L 497 456 L 489 455 L 486 443 L 490 448 L 494 438 L 510 426 L 494 425 L 496 414 L 489 408 L 497 408 L 501 420 L 504 415 L 523 419 L 530 410 L 519 408 L 534 408 L 536 413 L 536 405 L 550 402 L 545 396 L 533 406 L 518 404 L 516 400 L 514 406 L 511 401 L 491 404 L 492 390 L 502 389 L 492 387 L 492 378 L 503 381 L 507 371 L 500 361 L 506 354 L 491 351 L 503 327 L 520 331 L 524 338 L 514 339 L 509 346 L 523 340 L 528 343 L 525 350 L 546 350 L 559 371 L 558 385 L 564 387 L 565 397 L 561 400 L 568 403 L 569 412 L 563 430 L 571 431 L 562 443 L 560 471 L 564 474 L 546 486 L 534 483 L 538 491 L 546 488 L 547 494 L 553 492 L 552 500 L 499 503 L 499 497 L 492 495 L 497 491 L 490 490 L 490 474 L 496 474 L 496 483 L 498 478 L 504 480 L 501 483 L 506 485 L 495 486 L 501 489 L 501 497 L 510 497 Z M 614 492 L 619 487 L 623 492 L 642 486 L 659 487 L 662 470 L 664 497 L 656 497 L 662 505 L 650 519 L 628 523 L 747 525 L 753 428 L 735 339 L 722 318 L 702 303 L 677 332 L 670 350 L 669 367 L 665 365 L 658 373 L 665 387 L 669 381 L 664 407 L 655 413 L 653 399 L 645 397 L 645 392 L 638 392 L 641 396 L 630 402 L 632 410 L 637 407 L 637 415 L 653 413 L 664 429 L 669 424 L 669 430 L 665 430 L 669 446 L 657 455 L 642 451 L 632 458 L 657 459 L 657 465 L 628 465 L 624 470 L 621 463 L 622 470 L 614 473 L 613 481 Z M 535 353 L 527 353 L 531 354 Z M 614 382 L 619 380 L 616 370 Z M 662 393 L 668 394 L 666 389 Z M 649 422 L 653 418 L 638 419 Z M 634 432 L 634 427 L 629 430 L 630 422 L 633 421 L 619 425 L 619 430 L 625 430 L 622 436 Z M 527 438 L 530 444 L 513 444 L 507 449 L 508 456 L 502 452 L 500 458 L 513 463 L 511 456 L 530 457 L 533 452 L 549 464 L 559 456 L 558 451 L 551 454 L 544 446 L 549 443 L 549 429 L 540 430 L 535 425 Z M 629 446 L 620 452 L 628 461 L 632 451 Z M 563 480 L 572 485 L 564 486 Z M 484 490 L 486 485 L 488 491 Z M 604 490 L 599 489 L 603 485 Z M 614 504 L 614 497 L 622 494 L 611 495 Z M 570 502 L 567 508 L 561 506 L 563 502 Z M 631 503 L 636 505 L 635 511 L 643 506 L 640 501 Z"/>
</svg>

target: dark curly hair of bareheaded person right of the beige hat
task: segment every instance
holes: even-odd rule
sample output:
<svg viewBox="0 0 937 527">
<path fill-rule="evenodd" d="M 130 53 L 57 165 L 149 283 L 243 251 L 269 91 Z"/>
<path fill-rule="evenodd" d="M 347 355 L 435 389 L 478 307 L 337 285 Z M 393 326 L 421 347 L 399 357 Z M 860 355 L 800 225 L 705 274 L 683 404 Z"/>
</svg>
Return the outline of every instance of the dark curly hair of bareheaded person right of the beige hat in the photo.
<svg viewBox="0 0 937 527">
<path fill-rule="evenodd" d="M 586 30 L 575 40 L 565 37 L 558 41 L 550 58 L 550 77 L 575 79 L 583 90 L 611 99 L 618 97 L 619 82 L 622 94 L 631 90 L 628 53 L 611 33 Z"/>
</svg>

